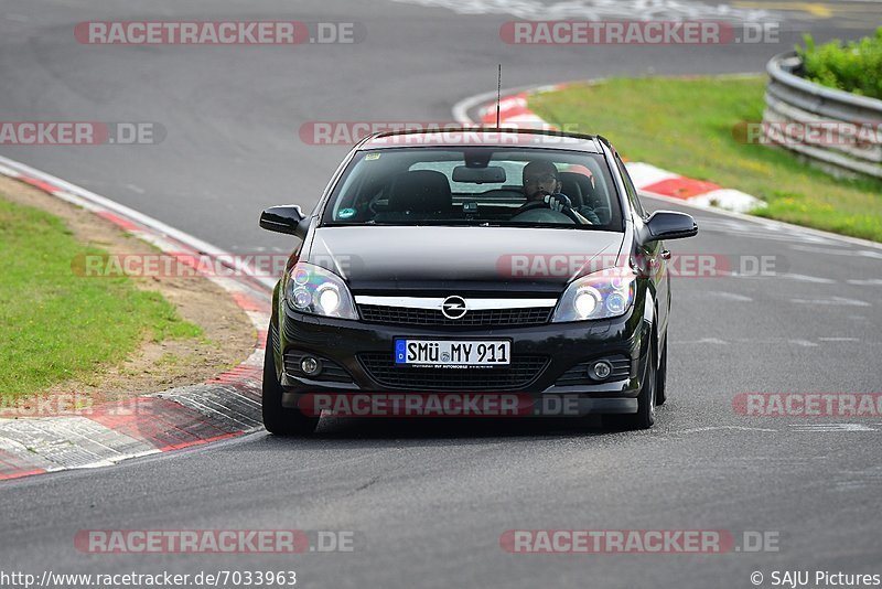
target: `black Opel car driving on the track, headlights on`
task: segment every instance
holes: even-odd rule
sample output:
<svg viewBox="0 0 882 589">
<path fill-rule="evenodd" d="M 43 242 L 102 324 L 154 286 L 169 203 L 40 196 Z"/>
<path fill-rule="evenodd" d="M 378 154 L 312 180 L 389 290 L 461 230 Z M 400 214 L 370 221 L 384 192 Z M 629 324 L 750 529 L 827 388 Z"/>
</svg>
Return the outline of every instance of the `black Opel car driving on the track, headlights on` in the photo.
<svg viewBox="0 0 882 589">
<path fill-rule="evenodd" d="M 273 293 L 270 432 L 311 432 L 316 395 L 567 397 L 617 428 L 665 401 L 663 239 L 698 227 L 648 215 L 602 137 L 377 133 L 310 215 L 273 206 L 260 226 L 302 239 Z"/>
</svg>

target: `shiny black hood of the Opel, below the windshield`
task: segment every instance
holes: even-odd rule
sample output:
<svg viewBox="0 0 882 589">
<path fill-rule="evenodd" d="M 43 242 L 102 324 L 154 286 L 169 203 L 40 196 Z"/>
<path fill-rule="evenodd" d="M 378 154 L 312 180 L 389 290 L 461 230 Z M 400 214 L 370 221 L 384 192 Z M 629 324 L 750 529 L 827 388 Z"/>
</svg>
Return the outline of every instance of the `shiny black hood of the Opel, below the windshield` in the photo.
<svg viewBox="0 0 882 589">
<path fill-rule="evenodd" d="M 560 292 L 584 264 L 610 267 L 623 233 L 521 227 L 320 227 L 306 261 L 353 292 Z"/>
</svg>

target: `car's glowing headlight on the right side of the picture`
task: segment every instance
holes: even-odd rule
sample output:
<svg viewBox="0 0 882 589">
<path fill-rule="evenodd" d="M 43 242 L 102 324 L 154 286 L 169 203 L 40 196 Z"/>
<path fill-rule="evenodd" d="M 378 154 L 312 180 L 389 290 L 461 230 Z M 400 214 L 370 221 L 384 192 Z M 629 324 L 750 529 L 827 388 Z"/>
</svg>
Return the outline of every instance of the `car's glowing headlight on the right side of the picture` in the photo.
<svg viewBox="0 0 882 589">
<path fill-rule="evenodd" d="M 551 321 L 621 317 L 634 304 L 636 279 L 631 269 L 612 268 L 573 280 L 563 291 Z"/>
</svg>

